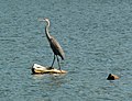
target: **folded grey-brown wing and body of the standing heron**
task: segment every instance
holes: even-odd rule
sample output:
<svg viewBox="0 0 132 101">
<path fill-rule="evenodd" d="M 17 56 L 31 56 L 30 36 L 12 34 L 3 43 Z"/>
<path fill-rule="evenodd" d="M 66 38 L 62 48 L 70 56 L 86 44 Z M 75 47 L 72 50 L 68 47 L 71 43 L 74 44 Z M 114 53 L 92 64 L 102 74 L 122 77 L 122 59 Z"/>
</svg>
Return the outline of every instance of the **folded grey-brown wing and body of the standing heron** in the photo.
<svg viewBox="0 0 132 101">
<path fill-rule="evenodd" d="M 51 47 L 54 52 L 55 55 L 59 55 L 62 57 L 62 59 L 65 58 L 65 53 L 62 48 L 62 46 L 59 45 L 59 43 L 52 36 L 51 38 Z"/>
</svg>

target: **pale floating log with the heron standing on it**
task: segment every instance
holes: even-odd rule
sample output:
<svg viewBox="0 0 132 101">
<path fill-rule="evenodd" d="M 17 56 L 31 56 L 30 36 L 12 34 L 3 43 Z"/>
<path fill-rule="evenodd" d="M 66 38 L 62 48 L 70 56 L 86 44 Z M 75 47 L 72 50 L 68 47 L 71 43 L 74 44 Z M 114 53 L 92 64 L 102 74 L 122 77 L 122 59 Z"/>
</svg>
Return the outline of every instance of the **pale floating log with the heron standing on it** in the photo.
<svg viewBox="0 0 132 101">
<path fill-rule="evenodd" d="M 50 69 L 50 67 L 41 66 L 37 64 L 34 64 L 32 67 L 32 72 L 33 74 L 66 74 L 67 71 L 65 70 L 58 70 L 58 69 Z"/>
</svg>

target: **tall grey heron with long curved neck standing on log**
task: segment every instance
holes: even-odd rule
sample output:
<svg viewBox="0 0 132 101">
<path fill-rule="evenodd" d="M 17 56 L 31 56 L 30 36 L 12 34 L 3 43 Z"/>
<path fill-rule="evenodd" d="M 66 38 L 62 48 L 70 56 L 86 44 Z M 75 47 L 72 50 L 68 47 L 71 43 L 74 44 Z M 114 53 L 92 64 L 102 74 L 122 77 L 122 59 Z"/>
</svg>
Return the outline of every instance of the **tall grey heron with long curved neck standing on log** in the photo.
<svg viewBox="0 0 132 101">
<path fill-rule="evenodd" d="M 55 58 L 57 57 L 57 63 L 58 63 L 58 67 L 59 67 L 58 69 L 61 70 L 61 64 L 59 64 L 58 56 L 61 56 L 62 60 L 64 60 L 65 53 L 64 53 L 63 48 L 61 47 L 59 43 L 53 36 L 50 35 L 50 32 L 48 32 L 50 20 L 48 19 L 38 19 L 38 21 L 45 21 L 47 23 L 45 26 L 45 34 L 46 34 L 46 37 L 50 42 L 51 48 L 54 53 L 54 59 L 53 59 L 53 63 L 52 63 L 52 66 L 50 67 L 50 69 L 53 69 Z"/>
</svg>

